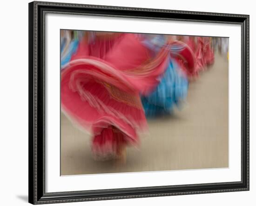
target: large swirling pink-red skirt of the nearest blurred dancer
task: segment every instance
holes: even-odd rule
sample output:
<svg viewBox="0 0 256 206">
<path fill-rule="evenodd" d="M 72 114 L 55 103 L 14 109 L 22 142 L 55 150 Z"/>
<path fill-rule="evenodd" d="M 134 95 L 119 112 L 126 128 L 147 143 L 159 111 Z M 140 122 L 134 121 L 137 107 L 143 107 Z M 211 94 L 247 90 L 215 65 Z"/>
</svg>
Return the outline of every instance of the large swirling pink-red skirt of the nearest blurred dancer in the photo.
<svg viewBox="0 0 256 206">
<path fill-rule="evenodd" d="M 147 128 L 140 94 L 157 86 L 169 56 L 162 50 L 151 58 L 134 34 L 124 33 L 111 44 L 108 40 L 81 41 L 61 73 L 62 110 L 92 133 L 93 152 L 100 156 L 118 155 L 117 145 L 139 142 L 138 132 Z M 94 51 L 97 44 L 104 52 Z M 117 143 L 115 136 L 122 140 Z"/>
</svg>

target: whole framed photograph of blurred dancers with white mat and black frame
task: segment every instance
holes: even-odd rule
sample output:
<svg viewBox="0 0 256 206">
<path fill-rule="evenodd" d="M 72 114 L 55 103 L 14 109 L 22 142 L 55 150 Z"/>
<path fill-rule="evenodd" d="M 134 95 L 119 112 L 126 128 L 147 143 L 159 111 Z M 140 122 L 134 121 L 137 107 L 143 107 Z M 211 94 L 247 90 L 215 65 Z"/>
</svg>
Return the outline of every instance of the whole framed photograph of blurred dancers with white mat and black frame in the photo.
<svg viewBox="0 0 256 206">
<path fill-rule="evenodd" d="M 249 15 L 28 6 L 30 203 L 249 190 Z"/>
</svg>

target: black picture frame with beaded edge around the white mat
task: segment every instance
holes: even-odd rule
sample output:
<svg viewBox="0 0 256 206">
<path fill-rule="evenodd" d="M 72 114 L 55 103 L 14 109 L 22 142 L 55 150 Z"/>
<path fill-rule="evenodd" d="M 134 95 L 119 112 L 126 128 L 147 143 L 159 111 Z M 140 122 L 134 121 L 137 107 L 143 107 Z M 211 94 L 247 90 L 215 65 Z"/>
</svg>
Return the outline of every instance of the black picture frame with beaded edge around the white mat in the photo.
<svg viewBox="0 0 256 206">
<path fill-rule="evenodd" d="M 29 202 L 62 203 L 249 190 L 249 15 L 34 1 L 29 3 Z M 45 192 L 45 13 L 239 24 L 242 42 L 241 181 L 90 191 Z M 232 68 L 231 68 L 232 69 Z"/>
</svg>

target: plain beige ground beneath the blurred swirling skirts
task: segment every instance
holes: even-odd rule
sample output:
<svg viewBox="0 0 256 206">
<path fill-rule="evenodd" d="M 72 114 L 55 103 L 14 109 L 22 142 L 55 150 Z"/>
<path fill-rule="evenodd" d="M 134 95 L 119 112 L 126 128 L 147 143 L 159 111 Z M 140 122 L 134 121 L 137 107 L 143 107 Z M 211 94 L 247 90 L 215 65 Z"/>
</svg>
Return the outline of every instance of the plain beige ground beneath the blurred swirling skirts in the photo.
<svg viewBox="0 0 256 206">
<path fill-rule="evenodd" d="M 215 64 L 189 84 L 187 103 L 173 116 L 151 120 L 127 163 L 94 161 L 90 137 L 61 115 L 61 175 L 229 167 L 228 61 Z"/>
</svg>

